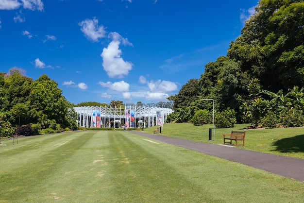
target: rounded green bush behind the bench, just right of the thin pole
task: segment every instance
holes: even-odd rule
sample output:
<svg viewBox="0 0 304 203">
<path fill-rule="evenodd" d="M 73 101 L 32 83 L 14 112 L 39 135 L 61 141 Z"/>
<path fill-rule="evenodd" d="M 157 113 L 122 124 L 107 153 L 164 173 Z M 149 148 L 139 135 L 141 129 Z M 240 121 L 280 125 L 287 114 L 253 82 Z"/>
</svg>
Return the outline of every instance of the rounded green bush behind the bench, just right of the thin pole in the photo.
<svg viewBox="0 0 304 203">
<path fill-rule="evenodd" d="M 236 124 L 236 112 L 234 109 L 227 108 L 225 111 L 215 115 L 216 128 L 232 128 Z"/>
</svg>

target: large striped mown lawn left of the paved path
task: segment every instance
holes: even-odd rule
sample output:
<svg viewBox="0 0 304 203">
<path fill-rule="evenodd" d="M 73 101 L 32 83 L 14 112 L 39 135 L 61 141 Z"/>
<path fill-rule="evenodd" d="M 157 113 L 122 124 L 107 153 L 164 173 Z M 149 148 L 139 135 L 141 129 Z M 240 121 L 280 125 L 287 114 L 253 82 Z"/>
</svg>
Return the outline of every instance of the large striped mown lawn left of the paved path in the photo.
<svg viewBox="0 0 304 203">
<path fill-rule="evenodd" d="M 304 199 L 300 181 L 126 131 L 70 132 L 3 143 L 0 203 Z"/>
</svg>

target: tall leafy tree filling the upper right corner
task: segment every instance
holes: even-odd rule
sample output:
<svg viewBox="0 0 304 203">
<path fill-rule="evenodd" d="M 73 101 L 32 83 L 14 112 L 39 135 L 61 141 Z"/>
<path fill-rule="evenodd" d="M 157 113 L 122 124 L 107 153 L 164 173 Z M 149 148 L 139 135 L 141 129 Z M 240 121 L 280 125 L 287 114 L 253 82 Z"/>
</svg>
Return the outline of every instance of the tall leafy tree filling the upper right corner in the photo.
<svg viewBox="0 0 304 203">
<path fill-rule="evenodd" d="M 304 85 L 303 0 L 260 0 L 228 56 L 272 92 Z"/>
</svg>

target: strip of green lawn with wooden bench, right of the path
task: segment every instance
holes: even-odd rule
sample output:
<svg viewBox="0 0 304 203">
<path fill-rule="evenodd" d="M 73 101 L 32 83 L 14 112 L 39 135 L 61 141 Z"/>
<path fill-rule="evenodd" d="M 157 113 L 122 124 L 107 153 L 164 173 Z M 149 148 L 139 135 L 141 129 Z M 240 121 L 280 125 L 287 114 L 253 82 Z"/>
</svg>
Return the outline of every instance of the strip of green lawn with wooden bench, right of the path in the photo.
<svg viewBox="0 0 304 203">
<path fill-rule="evenodd" d="M 168 123 L 164 124 L 162 134 L 164 136 L 177 137 L 181 139 L 198 142 L 208 142 L 209 128 L 212 129 L 212 144 L 223 144 L 223 135 L 229 134 L 231 130 L 244 130 L 249 124 L 236 124 L 234 128 L 215 129 L 215 141 L 213 141 L 213 125 L 194 126 L 190 123 Z M 153 129 L 146 128 L 144 132 L 153 133 Z M 235 142 L 233 141 L 233 144 Z M 275 129 L 253 129 L 247 130 L 245 136 L 246 149 L 257 152 L 266 152 L 291 156 L 304 159 L 304 128 L 275 128 Z"/>
</svg>

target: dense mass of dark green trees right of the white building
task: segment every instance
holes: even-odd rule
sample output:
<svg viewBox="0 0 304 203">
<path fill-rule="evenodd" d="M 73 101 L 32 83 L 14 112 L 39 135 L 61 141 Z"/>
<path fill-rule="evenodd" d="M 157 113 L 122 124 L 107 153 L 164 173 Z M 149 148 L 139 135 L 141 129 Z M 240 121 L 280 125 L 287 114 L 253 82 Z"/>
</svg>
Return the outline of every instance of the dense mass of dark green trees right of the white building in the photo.
<svg viewBox="0 0 304 203">
<path fill-rule="evenodd" d="M 280 94 L 275 97 L 277 100 L 284 99 L 283 92 L 289 100 L 291 95 L 297 95 L 297 101 L 303 102 L 295 106 L 296 113 L 303 113 L 298 108 L 304 103 L 304 97 L 300 96 L 303 86 L 304 2 L 260 0 L 241 35 L 230 43 L 227 56 L 206 64 L 198 81 L 189 80 L 169 99 L 174 101 L 175 121 L 189 121 L 199 109 L 210 111 L 202 99 L 214 99 L 218 113 L 232 109 L 239 122 L 252 121 L 258 125 L 267 114 L 279 114 L 269 101 L 273 99 L 272 92 Z M 281 113 L 290 107 L 280 106 Z M 191 109 L 194 113 L 189 113 Z M 183 119 L 178 119 L 179 115 Z"/>
</svg>

